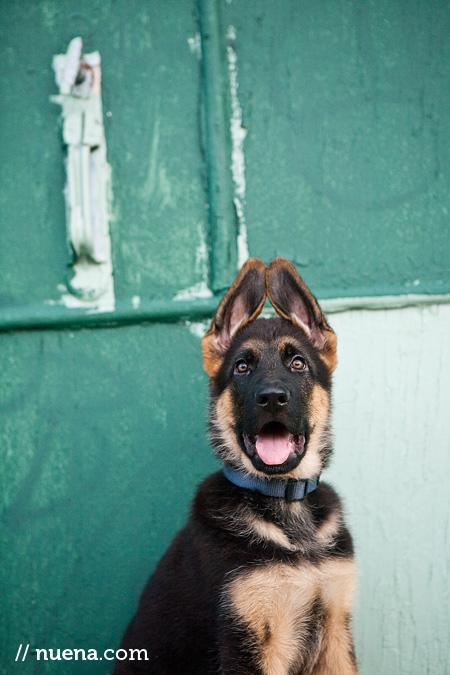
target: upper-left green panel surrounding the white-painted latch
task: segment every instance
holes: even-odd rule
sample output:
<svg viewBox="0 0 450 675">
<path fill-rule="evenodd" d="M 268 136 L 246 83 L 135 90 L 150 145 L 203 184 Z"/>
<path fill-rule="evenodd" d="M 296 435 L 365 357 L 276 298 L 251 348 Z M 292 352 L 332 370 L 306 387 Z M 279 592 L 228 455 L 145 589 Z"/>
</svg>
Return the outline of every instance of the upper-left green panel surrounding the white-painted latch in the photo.
<svg viewBox="0 0 450 675">
<path fill-rule="evenodd" d="M 74 7 L 66 0 L 1 3 L 5 305 L 58 300 L 64 281 L 65 178 L 60 108 L 49 100 L 57 93 L 51 62 L 78 34 L 86 52 L 102 57 L 116 297 L 171 297 L 200 280 L 200 76 L 187 43 L 197 25 L 195 2 L 89 0 Z"/>
</svg>

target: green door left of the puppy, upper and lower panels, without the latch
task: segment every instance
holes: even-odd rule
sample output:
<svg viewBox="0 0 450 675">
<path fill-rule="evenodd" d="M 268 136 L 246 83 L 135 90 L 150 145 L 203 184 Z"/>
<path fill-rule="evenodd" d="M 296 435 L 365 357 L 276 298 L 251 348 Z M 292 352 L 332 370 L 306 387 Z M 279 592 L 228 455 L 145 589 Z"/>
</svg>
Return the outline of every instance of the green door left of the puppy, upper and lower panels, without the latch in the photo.
<svg viewBox="0 0 450 675">
<path fill-rule="evenodd" d="M 203 75 L 189 42 L 198 13 L 195 2 L 122 0 L 1 10 L 0 318 L 23 330 L 1 334 L 0 671 L 104 673 L 104 659 L 38 662 L 32 650 L 117 648 L 193 487 L 215 466 L 199 339 L 182 321 L 217 303 L 189 300 L 210 279 Z M 77 35 L 102 58 L 107 316 L 61 301 L 71 256 L 51 62 Z M 20 643 L 30 653 L 16 664 Z"/>
</svg>

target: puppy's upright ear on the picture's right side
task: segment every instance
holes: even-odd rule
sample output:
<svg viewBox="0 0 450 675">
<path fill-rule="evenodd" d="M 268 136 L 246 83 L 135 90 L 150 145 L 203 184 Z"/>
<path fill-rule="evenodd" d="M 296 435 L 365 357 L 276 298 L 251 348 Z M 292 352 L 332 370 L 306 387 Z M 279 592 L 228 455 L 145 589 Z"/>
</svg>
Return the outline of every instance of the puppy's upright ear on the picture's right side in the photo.
<svg viewBox="0 0 450 675">
<path fill-rule="evenodd" d="M 334 369 L 336 335 L 294 265 L 285 258 L 275 258 L 267 268 L 266 283 L 267 295 L 276 312 L 300 326 L 317 349 L 329 354 L 329 365 L 334 361 Z"/>
</svg>

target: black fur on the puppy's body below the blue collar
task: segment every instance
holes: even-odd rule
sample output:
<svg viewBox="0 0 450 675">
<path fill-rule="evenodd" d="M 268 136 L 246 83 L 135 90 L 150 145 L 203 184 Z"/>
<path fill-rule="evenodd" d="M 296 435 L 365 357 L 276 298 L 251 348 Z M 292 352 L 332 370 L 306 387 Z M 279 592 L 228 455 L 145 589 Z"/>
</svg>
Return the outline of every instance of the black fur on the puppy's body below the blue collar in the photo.
<svg viewBox="0 0 450 675">
<path fill-rule="evenodd" d="M 326 556 L 351 558 L 353 554 L 344 525 L 325 550 L 315 541 L 324 517 L 340 508 L 329 485 L 319 484 L 302 504 L 302 517 L 287 522 L 280 500 L 242 490 L 230 484 L 222 472 L 209 476 L 198 489 L 188 523 L 145 587 L 121 644 L 122 649 L 146 649 L 149 661 L 118 662 L 114 673 L 261 673 L 248 649 L 252 636 L 245 635 L 240 624 L 237 632 L 227 629 L 233 626 L 235 617 L 224 609 L 224 584 L 255 565 L 273 561 L 318 563 Z M 291 541 L 301 548 L 291 553 L 242 534 L 235 515 L 243 505 L 269 521 L 283 523 Z M 320 615 L 319 604 L 311 608 L 311 649 L 317 642 L 319 622 L 314 617 Z M 228 642 L 230 634 L 232 643 Z"/>
</svg>

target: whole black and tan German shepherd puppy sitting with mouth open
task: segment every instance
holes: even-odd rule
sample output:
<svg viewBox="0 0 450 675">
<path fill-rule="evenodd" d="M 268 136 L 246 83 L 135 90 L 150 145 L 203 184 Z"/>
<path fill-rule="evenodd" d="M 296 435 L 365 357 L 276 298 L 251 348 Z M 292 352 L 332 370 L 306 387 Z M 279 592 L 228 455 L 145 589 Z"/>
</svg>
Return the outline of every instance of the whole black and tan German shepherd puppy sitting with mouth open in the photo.
<svg viewBox="0 0 450 675">
<path fill-rule="evenodd" d="M 279 316 L 257 319 L 266 295 Z M 291 263 L 251 258 L 202 351 L 224 470 L 200 485 L 114 673 L 354 675 L 352 540 L 318 483 L 336 336 Z"/>
</svg>

